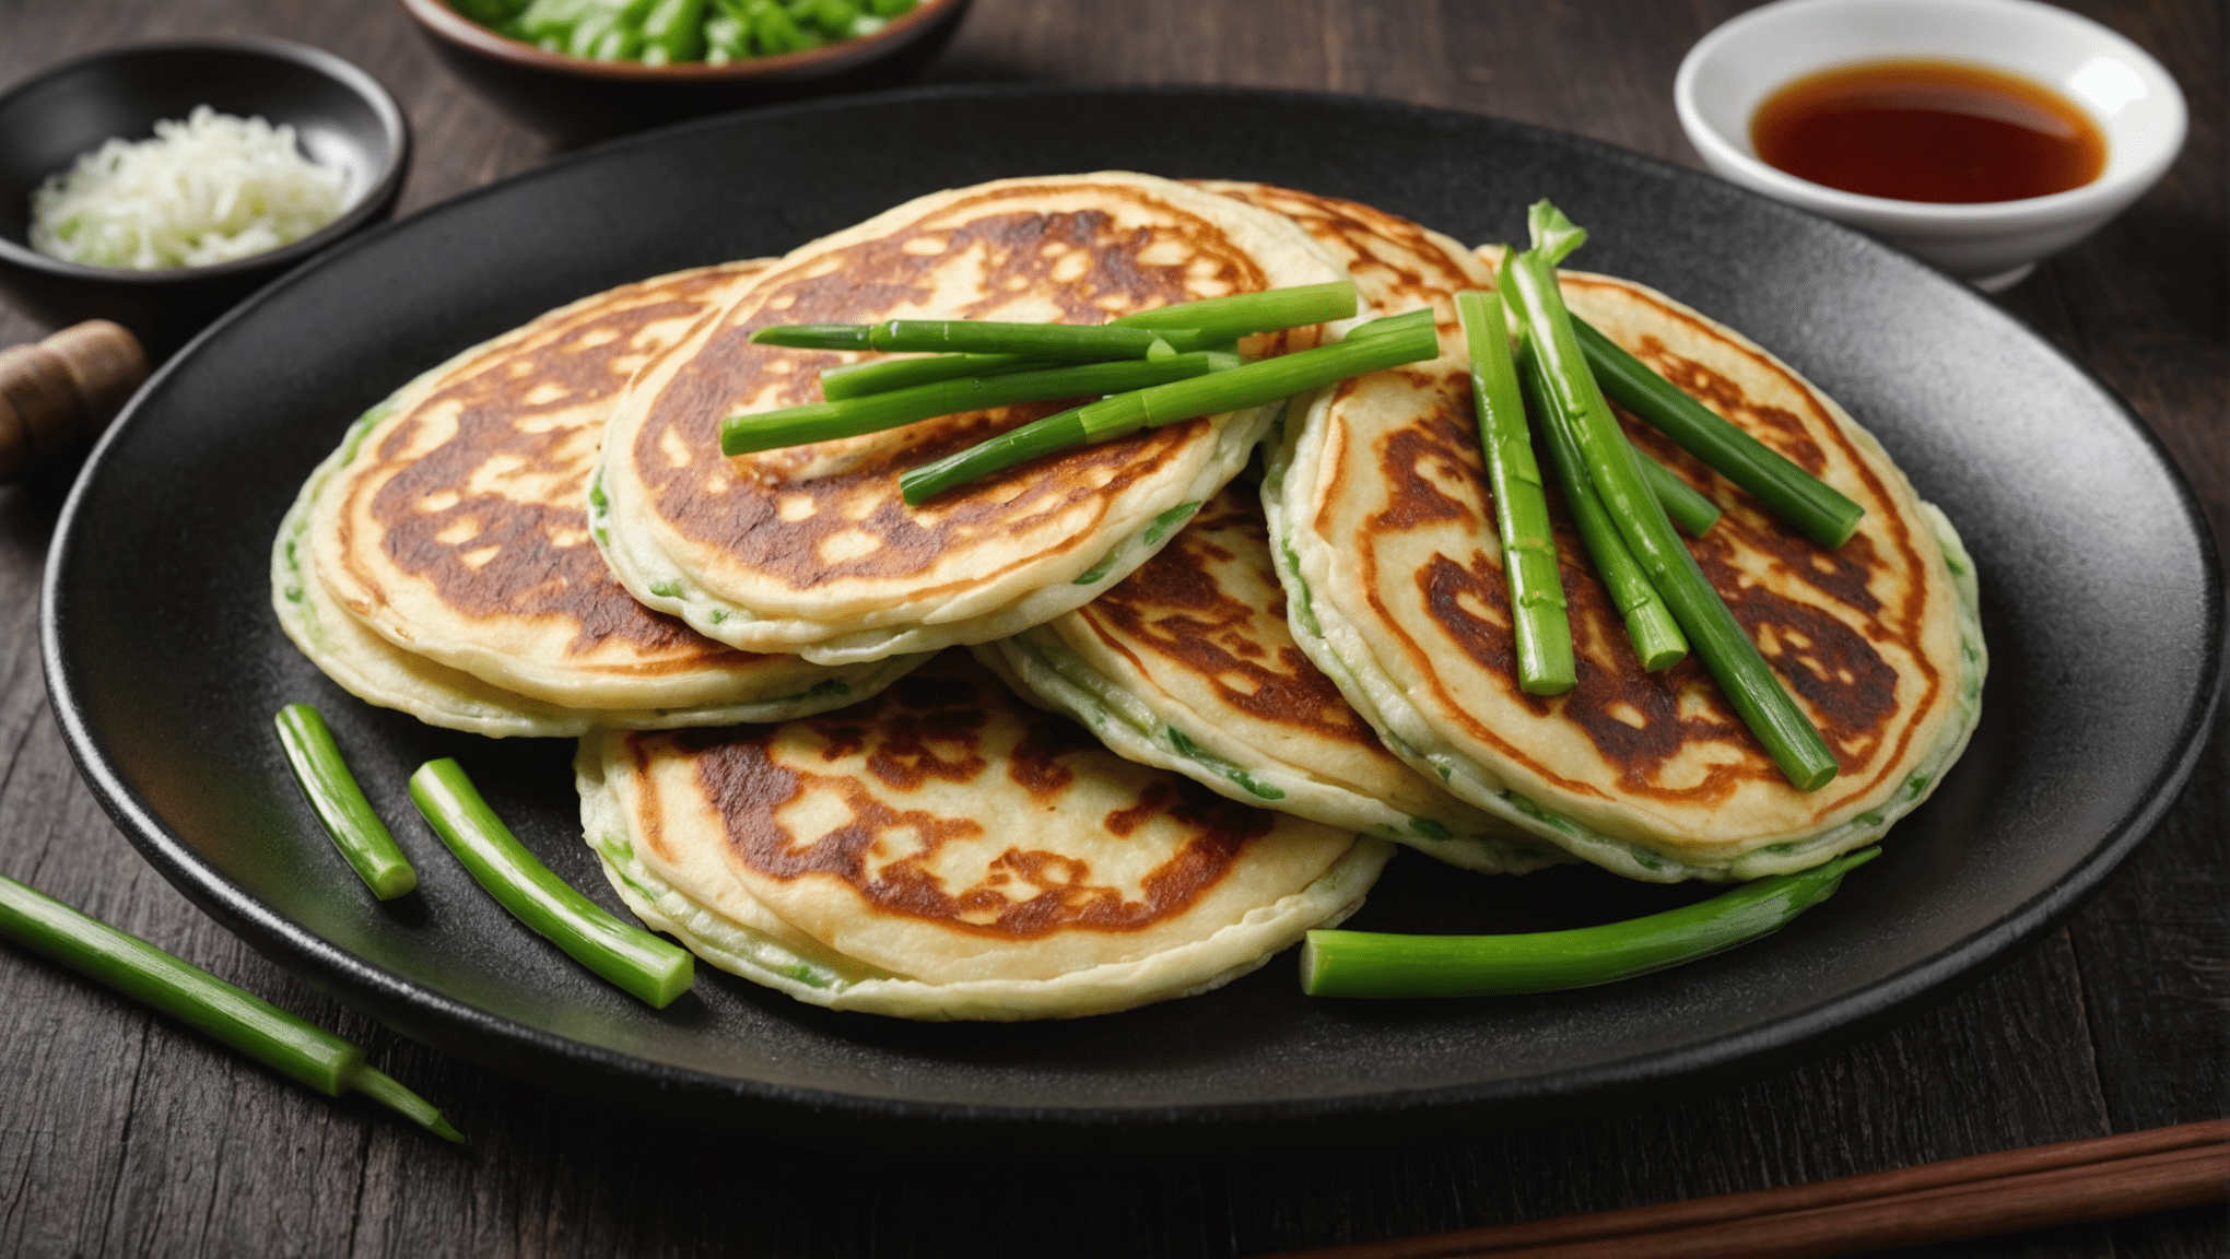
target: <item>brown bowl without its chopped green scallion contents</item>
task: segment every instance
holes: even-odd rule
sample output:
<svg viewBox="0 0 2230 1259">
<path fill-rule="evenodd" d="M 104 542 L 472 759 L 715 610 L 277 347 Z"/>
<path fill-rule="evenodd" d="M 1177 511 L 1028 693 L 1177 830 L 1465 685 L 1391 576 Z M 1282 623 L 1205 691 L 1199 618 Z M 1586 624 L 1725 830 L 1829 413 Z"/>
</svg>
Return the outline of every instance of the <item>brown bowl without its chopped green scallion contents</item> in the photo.
<svg viewBox="0 0 2230 1259">
<path fill-rule="evenodd" d="M 578 145 L 700 114 L 905 82 L 946 47 L 968 0 L 921 0 L 872 36 L 801 53 L 656 67 L 546 53 L 444 0 L 401 7 L 457 78 L 517 123 Z"/>
</svg>

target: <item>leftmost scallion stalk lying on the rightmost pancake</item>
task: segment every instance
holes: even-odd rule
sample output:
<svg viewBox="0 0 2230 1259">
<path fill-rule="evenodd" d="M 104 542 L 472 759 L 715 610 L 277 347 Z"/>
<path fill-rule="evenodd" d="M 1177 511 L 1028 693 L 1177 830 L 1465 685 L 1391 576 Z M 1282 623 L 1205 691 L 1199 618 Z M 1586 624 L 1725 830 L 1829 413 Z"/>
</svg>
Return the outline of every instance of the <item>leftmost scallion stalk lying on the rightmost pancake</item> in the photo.
<svg viewBox="0 0 2230 1259">
<path fill-rule="evenodd" d="M 1503 299 L 1492 292 L 1456 294 L 1456 316 L 1472 352 L 1472 401 L 1478 408 L 1478 446 L 1494 495 L 1494 528 L 1503 539 L 1503 577 L 1510 582 L 1510 631 L 1516 640 L 1519 689 L 1563 695 L 1572 689 L 1572 622 L 1557 573 L 1557 535 L 1541 492 L 1541 463 L 1525 430 L 1516 363 Z"/>
</svg>

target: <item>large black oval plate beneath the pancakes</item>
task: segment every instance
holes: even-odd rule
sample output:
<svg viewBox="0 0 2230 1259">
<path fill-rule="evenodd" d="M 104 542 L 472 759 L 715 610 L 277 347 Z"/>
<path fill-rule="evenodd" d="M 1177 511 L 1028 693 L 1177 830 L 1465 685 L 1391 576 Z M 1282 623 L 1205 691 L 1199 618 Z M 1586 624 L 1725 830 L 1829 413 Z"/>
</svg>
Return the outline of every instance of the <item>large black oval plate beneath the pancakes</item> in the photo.
<svg viewBox="0 0 2230 1259">
<path fill-rule="evenodd" d="M 1035 1025 L 830 1014 L 709 967 L 665 1012 L 508 920 L 417 822 L 457 755 L 520 836 L 615 905 L 580 842 L 571 744 L 370 709 L 270 613 L 303 475 L 428 363 L 575 296 L 778 254 L 914 194 L 1148 169 L 1369 201 L 1463 241 L 1550 196 L 1579 258 L 1795 363 L 1958 521 L 1982 575 L 1982 729 L 1936 798 L 1773 940 L 1612 987 L 1307 1001 L 1291 956 L 1193 1001 Z M 1247 91 L 959 89 L 774 109 L 560 160 L 343 247 L 212 328 L 105 439 L 47 570 L 71 751 L 172 882 L 288 967 L 430 1045 L 667 1119 L 816 1143 L 1126 1154 L 1416 1136 L 1726 1081 L 1878 1025 L 2063 916 L 2197 755 L 2221 597 L 2205 524 L 2145 428 L 1976 292 L 1713 178 L 1461 114 Z M 332 718 L 421 894 L 372 902 L 319 833 L 272 711 Z M 1610 920 L 1699 889 L 1597 871 L 1450 878 L 1403 856 L 1358 927 Z"/>
</svg>

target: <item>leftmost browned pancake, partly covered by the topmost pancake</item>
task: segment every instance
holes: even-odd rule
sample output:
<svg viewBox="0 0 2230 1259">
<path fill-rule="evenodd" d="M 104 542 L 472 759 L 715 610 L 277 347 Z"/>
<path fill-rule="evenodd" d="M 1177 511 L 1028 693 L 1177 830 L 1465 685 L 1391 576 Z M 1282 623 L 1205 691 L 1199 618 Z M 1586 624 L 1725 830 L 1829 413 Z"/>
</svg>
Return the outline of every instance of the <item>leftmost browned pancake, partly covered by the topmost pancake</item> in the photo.
<svg viewBox="0 0 2230 1259">
<path fill-rule="evenodd" d="M 780 720 L 923 657 L 827 668 L 653 613 L 589 541 L 586 481 L 627 377 L 765 263 L 624 285 L 410 381 L 312 472 L 272 553 L 272 602 L 348 691 L 439 726 Z"/>
</svg>

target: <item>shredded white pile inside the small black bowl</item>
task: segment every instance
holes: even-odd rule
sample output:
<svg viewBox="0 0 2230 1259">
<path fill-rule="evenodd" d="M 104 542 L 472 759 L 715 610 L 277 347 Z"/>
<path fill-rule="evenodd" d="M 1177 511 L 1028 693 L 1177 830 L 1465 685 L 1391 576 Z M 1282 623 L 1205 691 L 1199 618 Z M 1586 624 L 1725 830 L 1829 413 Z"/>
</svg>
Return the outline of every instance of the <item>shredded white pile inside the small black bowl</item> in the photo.
<svg viewBox="0 0 2230 1259">
<path fill-rule="evenodd" d="M 31 194 L 31 247 L 96 267 L 205 267 L 301 241 L 339 218 L 346 178 L 294 149 L 294 127 L 196 105 L 154 140 L 109 140 Z"/>
</svg>

